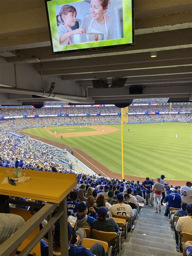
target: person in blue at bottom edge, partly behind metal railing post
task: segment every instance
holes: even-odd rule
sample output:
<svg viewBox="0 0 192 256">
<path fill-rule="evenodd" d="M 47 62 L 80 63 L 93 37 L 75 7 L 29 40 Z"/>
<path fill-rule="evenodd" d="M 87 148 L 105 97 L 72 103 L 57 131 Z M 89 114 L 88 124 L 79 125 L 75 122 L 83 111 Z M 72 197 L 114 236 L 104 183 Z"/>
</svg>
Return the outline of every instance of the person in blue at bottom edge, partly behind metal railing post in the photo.
<svg viewBox="0 0 192 256">
<path fill-rule="evenodd" d="M 105 256 L 104 247 L 100 243 L 95 243 L 90 248 L 90 250 L 88 250 L 82 245 L 77 245 L 77 246 L 72 245 L 70 243 L 72 238 L 73 238 L 72 227 L 68 222 L 68 242 L 69 242 L 68 254 L 69 256 Z M 56 241 L 60 249 L 60 226 L 59 225 L 57 226 L 57 228 L 55 227 L 54 240 Z"/>
</svg>

